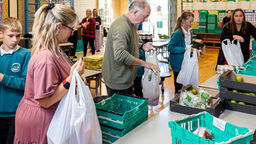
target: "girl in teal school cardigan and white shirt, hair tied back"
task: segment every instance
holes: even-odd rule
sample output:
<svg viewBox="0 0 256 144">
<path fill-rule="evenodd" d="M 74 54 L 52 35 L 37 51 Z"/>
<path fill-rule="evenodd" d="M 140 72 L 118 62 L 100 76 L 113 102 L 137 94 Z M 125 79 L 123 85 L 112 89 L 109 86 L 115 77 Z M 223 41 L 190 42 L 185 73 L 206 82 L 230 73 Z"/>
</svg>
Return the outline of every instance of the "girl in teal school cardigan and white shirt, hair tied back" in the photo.
<svg viewBox="0 0 256 144">
<path fill-rule="evenodd" d="M 182 84 L 179 84 L 176 81 L 181 69 L 184 53 L 187 49 L 186 45 L 191 45 L 193 42 L 193 34 L 189 31 L 193 25 L 193 21 L 193 13 L 183 12 L 178 18 L 177 25 L 174 28 L 174 33 L 172 34 L 168 44 L 168 51 L 170 52 L 170 65 L 174 75 L 175 93 L 182 88 Z"/>
</svg>

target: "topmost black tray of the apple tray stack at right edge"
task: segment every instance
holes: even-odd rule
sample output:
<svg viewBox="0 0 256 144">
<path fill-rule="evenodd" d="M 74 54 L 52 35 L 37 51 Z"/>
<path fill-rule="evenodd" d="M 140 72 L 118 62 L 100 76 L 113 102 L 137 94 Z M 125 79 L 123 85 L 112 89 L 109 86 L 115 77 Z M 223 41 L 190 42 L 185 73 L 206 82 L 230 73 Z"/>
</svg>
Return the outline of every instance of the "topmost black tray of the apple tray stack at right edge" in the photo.
<svg viewBox="0 0 256 144">
<path fill-rule="evenodd" d="M 243 82 L 237 82 L 236 77 L 241 76 L 243 78 Z M 221 74 L 219 77 L 219 85 L 221 87 L 227 87 L 230 89 L 248 91 L 248 92 L 256 92 L 256 77 L 254 76 L 246 76 L 235 74 L 233 71 L 226 71 Z"/>
</svg>

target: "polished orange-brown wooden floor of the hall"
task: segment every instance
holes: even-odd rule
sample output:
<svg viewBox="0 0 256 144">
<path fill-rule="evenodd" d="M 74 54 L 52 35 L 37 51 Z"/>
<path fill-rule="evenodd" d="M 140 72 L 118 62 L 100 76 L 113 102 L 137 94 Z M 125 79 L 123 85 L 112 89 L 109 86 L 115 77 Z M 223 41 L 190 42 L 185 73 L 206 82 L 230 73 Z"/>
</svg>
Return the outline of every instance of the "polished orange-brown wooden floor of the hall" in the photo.
<svg viewBox="0 0 256 144">
<path fill-rule="evenodd" d="M 205 82 L 207 79 L 216 74 L 215 66 L 217 63 L 219 49 L 206 49 L 202 51 L 202 54 L 198 57 L 199 62 L 199 84 Z M 95 54 L 102 55 L 102 52 L 96 52 Z M 81 58 L 82 52 L 78 52 L 78 58 Z M 91 55 L 88 51 L 87 55 Z M 161 55 L 158 55 L 158 59 L 161 59 Z M 159 97 L 159 103 L 157 106 L 148 107 L 149 118 L 157 114 L 159 111 L 169 106 L 169 101 L 174 97 L 174 84 L 173 84 L 173 73 L 169 71 L 168 66 L 165 63 L 159 63 L 161 72 L 170 73 L 172 76 L 165 78 L 164 81 L 164 93 Z M 94 86 L 92 82 L 92 86 Z M 160 86 L 160 85 L 159 85 Z M 91 90 L 92 96 L 95 97 L 95 90 Z M 107 95 L 106 86 L 102 83 L 102 89 L 99 89 L 99 95 Z"/>
</svg>

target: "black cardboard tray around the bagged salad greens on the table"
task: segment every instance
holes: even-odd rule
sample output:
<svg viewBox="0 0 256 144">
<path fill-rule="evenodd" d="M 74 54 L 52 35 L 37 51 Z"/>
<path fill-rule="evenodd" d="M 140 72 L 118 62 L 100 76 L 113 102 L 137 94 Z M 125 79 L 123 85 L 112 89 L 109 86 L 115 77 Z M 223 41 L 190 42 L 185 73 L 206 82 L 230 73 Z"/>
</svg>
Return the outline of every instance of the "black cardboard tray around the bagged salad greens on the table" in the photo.
<svg viewBox="0 0 256 144">
<path fill-rule="evenodd" d="M 192 90 L 192 89 L 196 89 L 197 91 L 199 91 L 199 88 L 201 87 L 194 87 L 189 85 L 187 87 L 184 87 L 184 89 L 182 89 L 181 91 Z M 214 98 L 211 98 L 209 102 L 210 107 L 206 109 L 201 109 L 201 108 L 193 108 L 188 106 L 181 106 L 179 105 L 179 100 L 180 100 L 180 93 L 179 93 L 179 94 L 175 94 L 175 97 L 170 100 L 170 110 L 177 113 L 187 114 L 187 115 L 192 115 L 202 111 L 207 111 L 211 115 L 215 117 L 219 117 L 220 114 L 225 110 L 225 99 L 218 98 L 219 97 L 218 90 L 206 89 L 206 88 L 201 88 L 201 89 L 213 95 Z"/>
</svg>

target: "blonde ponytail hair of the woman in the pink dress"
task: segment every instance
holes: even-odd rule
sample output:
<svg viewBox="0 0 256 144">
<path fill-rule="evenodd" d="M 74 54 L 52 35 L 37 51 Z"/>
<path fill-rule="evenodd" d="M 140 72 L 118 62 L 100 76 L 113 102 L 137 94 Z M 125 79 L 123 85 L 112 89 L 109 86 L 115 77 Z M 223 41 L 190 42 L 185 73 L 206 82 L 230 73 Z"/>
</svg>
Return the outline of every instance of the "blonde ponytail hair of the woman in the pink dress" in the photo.
<svg viewBox="0 0 256 144">
<path fill-rule="evenodd" d="M 77 27 L 79 21 L 77 14 L 70 7 L 62 4 L 45 4 L 36 11 L 32 30 L 32 54 L 39 52 L 40 47 L 43 46 L 58 57 L 58 22 L 66 26 L 71 23 L 73 27 Z"/>
</svg>

